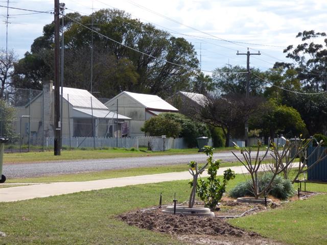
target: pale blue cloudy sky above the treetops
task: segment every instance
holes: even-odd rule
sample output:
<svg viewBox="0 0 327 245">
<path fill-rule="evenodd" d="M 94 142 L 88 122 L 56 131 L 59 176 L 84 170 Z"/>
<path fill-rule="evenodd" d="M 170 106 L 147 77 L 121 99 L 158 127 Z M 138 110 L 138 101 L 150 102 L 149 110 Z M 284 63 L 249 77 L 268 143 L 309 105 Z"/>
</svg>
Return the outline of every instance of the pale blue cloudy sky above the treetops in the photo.
<svg viewBox="0 0 327 245">
<path fill-rule="evenodd" d="M 301 42 L 298 32 L 315 30 L 327 32 L 327 1 L 284 0 L 62 0 L 65 13 L 88 15 L 104 8 L 116 8 L 132 18 L 152 23 L 176 37 L 191 42 L 201 60 L 205 74 L 227 64 L 246 67 L 246 56 L 237 52 L 261 55 L 250 56 L 250 66 L 267 70 L 278 62 L 291 62 L 283 53 L 288 45 Z M 7 0 L 0 0 L 7 6 Z M 53 11 L 54 1 L 13 0 L 9 7 L 38 11 Z M 7 8 L 0 7 L 0 47 L 6 47 Z M 42 35 L 45 24 L 53 14 L 9 9 L 8 50 L 18 58 L 30 51 L 33 40 Z M 24 14 L 24 15 L 21 15 Z M 27 15 L 28 14 L 28 15 Z M 323 40 L 315 40 L 322 43 Z M 260 44 L 260 45 L 258 45 Z"/>
</svg>

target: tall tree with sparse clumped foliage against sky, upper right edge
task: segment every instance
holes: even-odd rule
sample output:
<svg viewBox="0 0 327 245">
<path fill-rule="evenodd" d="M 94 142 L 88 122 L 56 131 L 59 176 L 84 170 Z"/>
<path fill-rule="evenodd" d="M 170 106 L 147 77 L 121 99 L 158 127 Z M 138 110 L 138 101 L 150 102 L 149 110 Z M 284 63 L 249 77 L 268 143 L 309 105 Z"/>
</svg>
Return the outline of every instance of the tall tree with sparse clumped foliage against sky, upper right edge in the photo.
<svg viewBox="0 0 327 245">
<path fill-rule="evenodd" d="M 295 48 L 289 45 L 285 50 L 286 57 L 293 59 L 296 64 L 296 70 L 299 72 L 298 78 L 309 89 L 316 91 L 327 90 L 327 39 L 324 44 L 317 44 L 310 40 L 323 38 L 324 32 L 303 31 L 296 37 L 301 38 L 302 43 Z"/>
</svg>

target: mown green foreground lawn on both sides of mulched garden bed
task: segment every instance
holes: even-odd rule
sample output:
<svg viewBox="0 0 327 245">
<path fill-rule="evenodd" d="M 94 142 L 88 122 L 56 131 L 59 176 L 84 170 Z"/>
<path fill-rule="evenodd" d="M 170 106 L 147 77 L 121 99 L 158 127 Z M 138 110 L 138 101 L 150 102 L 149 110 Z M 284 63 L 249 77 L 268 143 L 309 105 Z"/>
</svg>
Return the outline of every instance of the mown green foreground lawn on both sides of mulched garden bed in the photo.
<svg viewBox="0 0 327 245">
<path fill-rule="evenodd" d="M 243 175 L 237 175 L 228 183 L 227 191 L 244 179 Z M 165 204 L 172 203 L 174 192 L 180 202 L 188 200 L 188 182 L 135 185 L 0 203 L 0 231 L 7 234 L 0 238 L 0 243 L 182 244 L 168 234 L 128 226 L 115 215 L 157 205 L 160 192 Z M 310 188 L 327 192 L 327 185 L 315 184 Z M 318 195 L 230 222 L 290 244 L 326 244 L 326 201 L 327 195 Z"/>
</svg>

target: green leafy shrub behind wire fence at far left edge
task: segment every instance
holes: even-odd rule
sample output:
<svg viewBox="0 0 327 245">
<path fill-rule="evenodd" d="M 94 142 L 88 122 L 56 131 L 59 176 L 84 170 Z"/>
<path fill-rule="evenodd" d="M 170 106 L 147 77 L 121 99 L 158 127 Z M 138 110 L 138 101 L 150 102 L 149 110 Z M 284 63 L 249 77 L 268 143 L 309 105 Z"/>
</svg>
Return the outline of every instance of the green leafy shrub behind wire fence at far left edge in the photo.
<svg viewBox="0 0 327 245">
<path fill-rule="evenodd" d="M 0 136 L 12 137 L 14 130 L 12 121 L 15 117 L 15 109 L 9 105 L 8 101 L 0 99 Z"/>
</svg>

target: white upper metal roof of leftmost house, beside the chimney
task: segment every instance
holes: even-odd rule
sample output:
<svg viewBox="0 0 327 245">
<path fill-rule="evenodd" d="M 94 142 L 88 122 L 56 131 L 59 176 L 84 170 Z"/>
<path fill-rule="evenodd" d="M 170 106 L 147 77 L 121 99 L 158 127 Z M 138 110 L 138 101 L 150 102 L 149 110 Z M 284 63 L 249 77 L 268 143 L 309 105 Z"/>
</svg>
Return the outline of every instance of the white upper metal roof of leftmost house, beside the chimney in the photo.
<svg viewBox="0 0 327 245">
<path fill-rule="evenodd" d="M 95 96 L 93 96 L 85 89 L 63 87 L 62 90 L 63 90 L 64 99 L 68 101 L 68 97 L 69 97 L 69 103 L 74 107 L 91 108 L 91 97 L 92 97 L 92 107 L 94 109 L 108 109 Z M 61 88 L 60 88 L 60 94 L 61 94 Z"/>
</svg>

